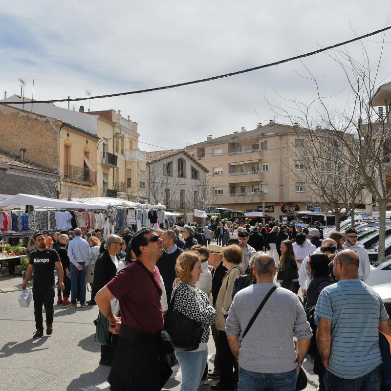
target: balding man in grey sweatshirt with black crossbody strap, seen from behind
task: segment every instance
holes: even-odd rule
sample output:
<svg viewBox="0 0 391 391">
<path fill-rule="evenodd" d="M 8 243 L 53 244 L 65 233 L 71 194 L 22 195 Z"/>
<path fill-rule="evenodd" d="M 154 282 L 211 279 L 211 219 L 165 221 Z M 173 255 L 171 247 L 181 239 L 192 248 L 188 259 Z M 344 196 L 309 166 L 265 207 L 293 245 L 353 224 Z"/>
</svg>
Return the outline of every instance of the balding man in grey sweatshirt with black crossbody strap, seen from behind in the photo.
<svg viewBox="0 0 391 391">
<path fill-rule="evenodd" d="M 239 358 L 239 390 L 257 390 L 258 384 L 262 389 L 293 391 L 312 330 L 297 296 L 279 287 L 242 339 L 250 319 L 274 286 L 277 273 L 273 258 L 266 254 L 255 256 L 253 268 L 257 283 L 235 295 L 225 325 L 232 353 Z"/>
</svg>

